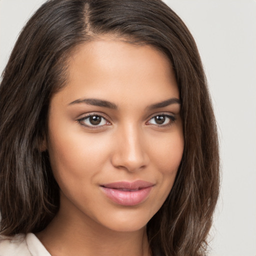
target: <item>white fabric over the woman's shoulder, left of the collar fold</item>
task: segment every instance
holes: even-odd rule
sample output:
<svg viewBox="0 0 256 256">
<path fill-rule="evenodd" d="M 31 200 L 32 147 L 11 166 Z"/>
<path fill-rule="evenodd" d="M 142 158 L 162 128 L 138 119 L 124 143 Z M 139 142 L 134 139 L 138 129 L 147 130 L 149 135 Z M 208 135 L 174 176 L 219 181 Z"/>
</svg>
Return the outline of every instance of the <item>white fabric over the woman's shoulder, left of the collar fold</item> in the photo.
<svg viewBox="0 0 256 256">
<path fill-rule="evenodd" d="M 0 235 L 0 256 L 31 256 L 25 238 L 25 234 Z"/>
</svg>

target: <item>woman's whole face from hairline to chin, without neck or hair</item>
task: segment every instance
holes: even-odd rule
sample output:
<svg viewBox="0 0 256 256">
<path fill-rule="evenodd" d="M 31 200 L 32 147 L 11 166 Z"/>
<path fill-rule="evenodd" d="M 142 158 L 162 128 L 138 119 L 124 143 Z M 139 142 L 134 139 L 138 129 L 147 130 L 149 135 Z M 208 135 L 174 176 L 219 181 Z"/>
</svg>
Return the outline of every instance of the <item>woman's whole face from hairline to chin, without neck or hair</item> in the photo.
<svg viewBox="0 0 256 256">
<path fill-rule="evenodd" d="M 157 49 L 107 38 L 80 45 L 51 98 L 46 147 L 60 211 L 116 231 L 161 207 L 183 153 L 179 92 Z"/>
</svg>

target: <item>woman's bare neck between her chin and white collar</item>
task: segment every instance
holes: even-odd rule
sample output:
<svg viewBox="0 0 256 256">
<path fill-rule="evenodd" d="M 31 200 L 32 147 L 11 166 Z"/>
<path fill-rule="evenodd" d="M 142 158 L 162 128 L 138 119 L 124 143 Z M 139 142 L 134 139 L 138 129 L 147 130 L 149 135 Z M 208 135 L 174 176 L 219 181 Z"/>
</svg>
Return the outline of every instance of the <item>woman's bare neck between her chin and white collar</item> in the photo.
<svg viewBox="0 0 256 256">
<path fill-rule="evenodd" d="M 149 256 L 146 227 L 120 232 L 108 229 L 86 216 L 69 215 L 60 209 L 36 236 L 52 256 L 104 255 Z M 87 217 L 88 218 L 88 217 Z"/>
</svg>

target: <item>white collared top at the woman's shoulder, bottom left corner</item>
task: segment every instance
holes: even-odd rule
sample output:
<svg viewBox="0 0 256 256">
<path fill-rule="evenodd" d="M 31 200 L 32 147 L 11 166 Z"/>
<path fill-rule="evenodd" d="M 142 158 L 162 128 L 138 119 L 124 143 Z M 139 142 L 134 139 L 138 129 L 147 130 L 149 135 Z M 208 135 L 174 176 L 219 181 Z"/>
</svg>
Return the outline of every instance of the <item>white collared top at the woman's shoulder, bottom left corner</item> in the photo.
<svg viewBox="0 0 256 256">
<path fill-rule="evenodd" d="M 50 256 L 50 253 L 33 233 L 28 233 L 0 236 L 0 256 Z"/>
</svg>

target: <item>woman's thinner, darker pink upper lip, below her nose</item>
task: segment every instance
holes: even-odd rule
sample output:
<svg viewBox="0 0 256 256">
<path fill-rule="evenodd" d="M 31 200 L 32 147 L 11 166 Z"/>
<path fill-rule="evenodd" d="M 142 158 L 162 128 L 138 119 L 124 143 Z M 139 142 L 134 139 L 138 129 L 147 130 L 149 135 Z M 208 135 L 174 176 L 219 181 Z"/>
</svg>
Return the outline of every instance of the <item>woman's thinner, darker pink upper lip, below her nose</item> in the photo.
<svg viewBox="0 0 256 256">
<path fill-rule="evenodd" d="M 145 187 L 153 186 L 154 184 L 145 180 L 129 181 L 116 181 L 101 186 L 114 189 L 142 189 Z"/>
</svg>

